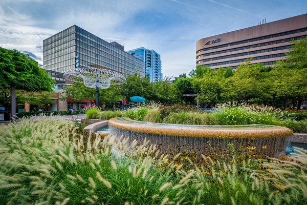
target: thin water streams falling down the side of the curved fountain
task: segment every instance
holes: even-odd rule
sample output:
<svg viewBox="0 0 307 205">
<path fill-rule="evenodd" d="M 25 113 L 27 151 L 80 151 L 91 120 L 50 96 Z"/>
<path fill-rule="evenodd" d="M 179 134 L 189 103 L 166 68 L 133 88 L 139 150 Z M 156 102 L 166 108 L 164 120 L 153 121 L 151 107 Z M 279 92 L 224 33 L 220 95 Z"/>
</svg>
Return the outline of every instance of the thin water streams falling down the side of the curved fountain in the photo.
<svg viewBox="0 0 307 205">
<path fill-rule="evenodd" d="M 159 129 L 159 128 L 157 128 Z M 192 129 L 192 128 L 189 128 Z M 165 134 L 150 134 L 130 131 L 109 126 L 109 133 L 116 137 L 129 137 L 128 145 L 133 140 L 138 140 L 138 144 L 143 144 L 144 139 L 149 140 L 149 145 L 157 145 L 163 153 L 178 153 L 192 151 L 196 155 L 210 156 L 226 152 L 229 146 L 240 150 L 252 150 L 252 153 L 274 156 L 286 150 L 291 136 L 283 137 L 263 137 L 263 138 L 217 138 L 217 137 L 186 137 Z"/>
</svg>

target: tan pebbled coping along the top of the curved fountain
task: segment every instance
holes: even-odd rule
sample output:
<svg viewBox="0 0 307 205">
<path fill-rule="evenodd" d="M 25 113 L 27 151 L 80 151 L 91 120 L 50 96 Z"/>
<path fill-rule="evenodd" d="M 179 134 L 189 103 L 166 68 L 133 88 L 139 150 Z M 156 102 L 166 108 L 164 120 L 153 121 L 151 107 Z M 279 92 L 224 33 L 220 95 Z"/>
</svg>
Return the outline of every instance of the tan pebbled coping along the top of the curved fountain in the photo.
<svg viewBox="0 0 307 205">
<path fill-rule="evenodd" d="M 130 118 L 123 118 L 131 122 L 121 121 L 118 118 L 111 118 L 109 120 L 109 126 L 134 131 L 142 132 L 148 134 L 161 134 L 161 135 L 173 135 L 173 136 L 185 136 L 185 137 L 229 137 L 229 138 L 264 138 L 264 137 L 284 137 L 292 136 L 293 132 L 289 128 L 270 126 L 266 128 L 242 128 L 251 127 L 255 125 L 246 126 L 206 126 L 202 128 L 201 126 L 188 125 L 188 128 L 178 128 L 178 127 L 167 127 L 164 125 L 170 124 L 156 124 L 150 123 L 144 126 L 144 124 L 133 124 L 133 121 L 139 122 L 137 120 L 132 120 Z M 180 125 L 178 125 L 180 126 Z M 185 125 L 187 126 L 187 125 Z M 211 128 L 210 128 L 211 127 Z M 221 128 L 222 127 L 222 128 Z M 233 128 L 240 127 L 240 128 Z"/>
</svg>

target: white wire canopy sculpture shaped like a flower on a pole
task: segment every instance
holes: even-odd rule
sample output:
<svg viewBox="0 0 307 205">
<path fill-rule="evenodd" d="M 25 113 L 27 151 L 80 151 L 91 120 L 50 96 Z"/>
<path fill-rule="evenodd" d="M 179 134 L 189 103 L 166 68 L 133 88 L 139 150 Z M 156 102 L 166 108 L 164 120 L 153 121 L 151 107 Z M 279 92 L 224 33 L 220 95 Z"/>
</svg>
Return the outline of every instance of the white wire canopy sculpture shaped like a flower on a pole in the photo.
<svg viewBox="0 0 307 205">
<path fill-rule="evenodd" d="M 65 72 L 63 77 L 83 83 L 88 88 L 96 88 L 96 106 L 98 106 L 99 88 L 106 89 L 111 85 L 126 83 L 126 78 L 116 71 L 93 67 L 74 68 Z"/>
</svg>

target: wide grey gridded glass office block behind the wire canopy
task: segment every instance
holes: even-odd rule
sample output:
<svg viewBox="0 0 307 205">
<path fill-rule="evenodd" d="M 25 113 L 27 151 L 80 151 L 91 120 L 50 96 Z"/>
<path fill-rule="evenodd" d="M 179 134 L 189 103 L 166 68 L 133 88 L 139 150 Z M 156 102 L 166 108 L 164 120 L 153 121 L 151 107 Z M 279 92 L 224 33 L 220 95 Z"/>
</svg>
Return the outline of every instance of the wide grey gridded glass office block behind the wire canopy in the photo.
<svg viewBox="0 0 307 205">
<path fill-rule="evenodd" d="M 43 68 L 60 73 L 77 67 L 95 67 L 124 75 L 145 76 L 144 61 L 74 25 L 43 40 Z"/>
</svg>

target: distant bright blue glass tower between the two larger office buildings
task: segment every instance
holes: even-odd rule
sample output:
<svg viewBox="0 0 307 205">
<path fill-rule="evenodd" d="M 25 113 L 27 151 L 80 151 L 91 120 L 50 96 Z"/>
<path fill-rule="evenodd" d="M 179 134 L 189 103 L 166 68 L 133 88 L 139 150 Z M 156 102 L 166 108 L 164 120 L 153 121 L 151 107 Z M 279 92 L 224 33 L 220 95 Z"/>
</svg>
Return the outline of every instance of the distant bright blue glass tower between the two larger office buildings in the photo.
<svg viewBox="0 0 307 205">
<path fill-rule="evenodd" d="M 150 82 L 163 79 L 159 53 L 154 50 L 145 49 L 144 47 L 129 50 L 127 52 L 144 61 L 145 76 Z"/>
</svg>

